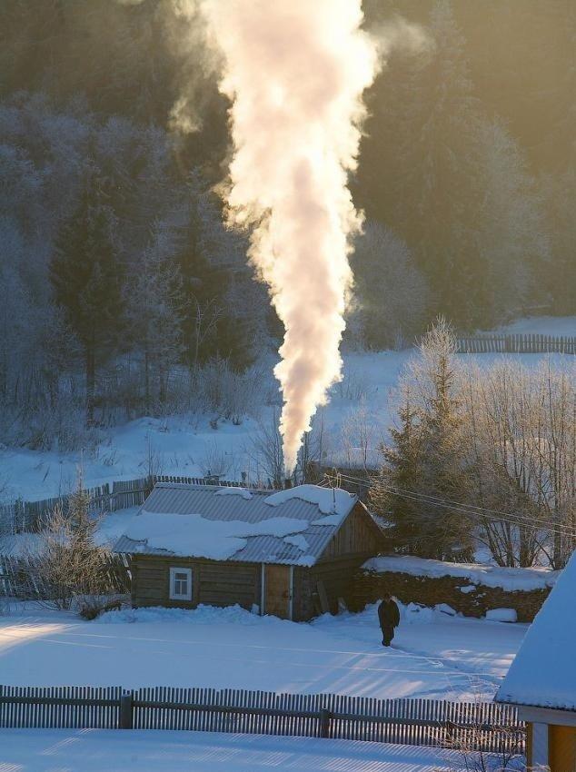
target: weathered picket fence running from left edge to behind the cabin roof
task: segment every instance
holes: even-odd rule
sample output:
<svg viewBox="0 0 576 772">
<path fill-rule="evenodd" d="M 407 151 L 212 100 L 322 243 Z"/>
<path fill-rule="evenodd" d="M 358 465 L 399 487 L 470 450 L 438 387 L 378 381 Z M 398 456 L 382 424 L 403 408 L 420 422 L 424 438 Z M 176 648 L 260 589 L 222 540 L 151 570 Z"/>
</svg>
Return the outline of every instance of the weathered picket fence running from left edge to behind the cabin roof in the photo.
<svg viewBox="0 0 576 772">
<path fill-rule="evenodd" d="M 257 488 L 235 480 L 219 480 L 217 477 L 176 477 L 173 475 L 155 475 L 136 480 L 116 480 L 98 488 L 87 490 L 90 496 L 90 509 L 94 512 L 114 512 L 144 504 L 144 499 L 154 488 L 155 482 L 184 482 L 194 485 L 216 484 L 229 487 Z M 17 500 L 0 505 L 0 523 L 12 523 L 15 532 L 35 531 L 43 528 L 46 519 L 55 507 L 68 510 L 68 495 L 56 496 L 41 501 Z"/>
</svg>

